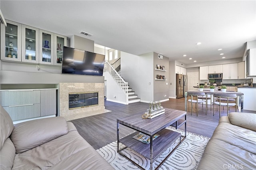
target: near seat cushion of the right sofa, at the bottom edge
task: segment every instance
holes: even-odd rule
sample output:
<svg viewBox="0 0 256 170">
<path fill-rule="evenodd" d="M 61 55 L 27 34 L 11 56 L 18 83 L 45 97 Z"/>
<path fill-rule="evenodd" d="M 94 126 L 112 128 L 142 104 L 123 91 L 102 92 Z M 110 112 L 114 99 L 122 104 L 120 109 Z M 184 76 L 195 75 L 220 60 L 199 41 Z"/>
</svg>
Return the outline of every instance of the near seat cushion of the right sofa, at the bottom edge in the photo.
<svg viewBox="0 0 256 170">
<path fill-rule="evenodd" d="M 197 170 L 244 169 L 256 167 L 256 155 L 218 139 L 211 139 Z"/>
</svg>

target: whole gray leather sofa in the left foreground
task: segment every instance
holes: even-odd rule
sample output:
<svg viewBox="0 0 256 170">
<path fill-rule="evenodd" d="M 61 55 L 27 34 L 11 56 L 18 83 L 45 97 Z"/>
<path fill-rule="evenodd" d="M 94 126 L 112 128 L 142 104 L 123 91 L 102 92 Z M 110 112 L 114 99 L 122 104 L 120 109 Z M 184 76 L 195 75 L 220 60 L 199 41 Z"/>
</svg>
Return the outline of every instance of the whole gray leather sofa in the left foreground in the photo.
<svg viewBox="0 0 256 170">
<path fill-rule="evenodd" d="M 1 106 L 0 112 L 1 170 L 114 169 L 63 117 L 13 125 Z"/>
</svg>

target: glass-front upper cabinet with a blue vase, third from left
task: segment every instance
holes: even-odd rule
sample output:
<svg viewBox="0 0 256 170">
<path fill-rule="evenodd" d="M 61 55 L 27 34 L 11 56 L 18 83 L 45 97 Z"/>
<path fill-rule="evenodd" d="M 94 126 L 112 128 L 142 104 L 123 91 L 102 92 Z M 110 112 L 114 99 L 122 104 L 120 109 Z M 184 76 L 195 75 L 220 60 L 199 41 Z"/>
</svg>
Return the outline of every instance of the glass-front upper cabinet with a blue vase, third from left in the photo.
<svg viewBox="0 0 256 170">
<path fill-rule="evenodd" d="M 50 64 L 54 63 L 54 33 L 39 30 L 39 63 Z"/>
</svg>

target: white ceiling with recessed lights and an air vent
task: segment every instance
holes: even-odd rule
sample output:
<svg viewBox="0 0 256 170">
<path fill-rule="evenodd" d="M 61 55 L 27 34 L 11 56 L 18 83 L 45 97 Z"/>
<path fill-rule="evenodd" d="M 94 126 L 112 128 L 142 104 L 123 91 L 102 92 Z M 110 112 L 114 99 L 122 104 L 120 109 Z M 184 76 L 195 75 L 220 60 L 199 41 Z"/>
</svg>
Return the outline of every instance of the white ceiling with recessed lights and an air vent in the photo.
<svg viewBox="0 0 256 170">
<path fill-rule="evenodd" d="M 0 8 L 8 20 L 184 64 L 242 57 L 245 43 L 256 40 L 256 0 L 1 0 Z"/>
</svg>

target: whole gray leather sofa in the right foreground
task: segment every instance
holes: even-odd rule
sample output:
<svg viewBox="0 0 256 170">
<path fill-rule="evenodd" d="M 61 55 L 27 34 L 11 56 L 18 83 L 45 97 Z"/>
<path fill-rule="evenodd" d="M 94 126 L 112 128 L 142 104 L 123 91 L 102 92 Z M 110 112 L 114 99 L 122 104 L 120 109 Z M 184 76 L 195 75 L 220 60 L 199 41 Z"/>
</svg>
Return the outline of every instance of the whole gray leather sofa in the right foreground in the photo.
<svg viewBox="0 0 256 170">
<path fill-rule="evenodd" d="M 256 114 L 220 117 L 197 170 L 256 169 Z"/>
</svg>

